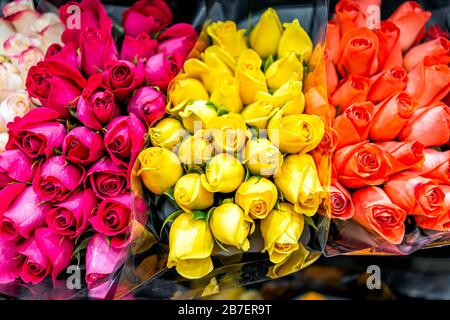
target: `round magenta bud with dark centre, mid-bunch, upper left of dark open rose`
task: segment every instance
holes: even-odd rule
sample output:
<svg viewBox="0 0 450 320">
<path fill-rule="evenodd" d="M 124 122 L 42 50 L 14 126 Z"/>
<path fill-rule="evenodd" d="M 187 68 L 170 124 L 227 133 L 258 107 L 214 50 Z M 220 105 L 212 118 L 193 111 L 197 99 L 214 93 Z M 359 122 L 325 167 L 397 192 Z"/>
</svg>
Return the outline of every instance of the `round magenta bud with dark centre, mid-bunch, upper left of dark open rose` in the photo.
<svg viewBox="0 0 450 320">
<path fill-rule="evenodd" d="M 86 127 L 72 129 L 64 139 L 62 152 L 67 160 L 87 166 L 93 164 L 105 153 L 103 137 Z"/>
</svg>

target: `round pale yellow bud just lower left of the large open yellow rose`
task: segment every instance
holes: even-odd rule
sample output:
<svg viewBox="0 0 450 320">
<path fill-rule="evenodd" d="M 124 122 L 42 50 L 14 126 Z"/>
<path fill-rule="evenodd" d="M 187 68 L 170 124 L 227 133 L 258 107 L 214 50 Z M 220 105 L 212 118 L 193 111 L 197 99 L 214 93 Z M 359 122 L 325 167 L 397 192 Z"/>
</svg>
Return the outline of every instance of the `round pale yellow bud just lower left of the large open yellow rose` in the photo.
<svg viewBox="0 0 450 320">
<path fill-rule="evenodd" d="M 250 139 L 244 150 L 245 165 L 253 175 L 270 177 L 280 170 L 283 155 L 267 139 Z"/>
</svg>

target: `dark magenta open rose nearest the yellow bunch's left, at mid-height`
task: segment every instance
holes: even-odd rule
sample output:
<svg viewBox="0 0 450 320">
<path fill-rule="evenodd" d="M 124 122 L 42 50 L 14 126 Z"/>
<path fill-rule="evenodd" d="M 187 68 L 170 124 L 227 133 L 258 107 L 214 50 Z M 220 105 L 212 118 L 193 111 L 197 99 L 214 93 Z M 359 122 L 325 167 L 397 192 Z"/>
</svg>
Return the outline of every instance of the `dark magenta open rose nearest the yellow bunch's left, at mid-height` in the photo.
<svg viewBox="0 0 450 320">
<path fill-rule="evenodd" d="M 124 194 L 129 186 L 127 168 L 115 164 L 111 158 L 104 157 L 93 164 L 86 175 L 86 182 L 101 199 Z"/>
</svg>

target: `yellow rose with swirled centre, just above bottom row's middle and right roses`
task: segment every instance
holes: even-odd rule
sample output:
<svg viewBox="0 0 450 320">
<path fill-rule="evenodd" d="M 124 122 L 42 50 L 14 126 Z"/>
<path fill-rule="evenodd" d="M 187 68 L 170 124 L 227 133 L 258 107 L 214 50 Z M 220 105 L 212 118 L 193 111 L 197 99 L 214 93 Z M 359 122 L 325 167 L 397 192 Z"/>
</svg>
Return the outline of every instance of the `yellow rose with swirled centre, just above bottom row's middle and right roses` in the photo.
<svg viewBox="0 0 450 320">
<path fill-rule="evenodd" d="M 264 219 L 278 199 L 277 187 L 266 178 L 250 177 L 236 191 L 235 201 L 252 219 Z"/>
</svg>

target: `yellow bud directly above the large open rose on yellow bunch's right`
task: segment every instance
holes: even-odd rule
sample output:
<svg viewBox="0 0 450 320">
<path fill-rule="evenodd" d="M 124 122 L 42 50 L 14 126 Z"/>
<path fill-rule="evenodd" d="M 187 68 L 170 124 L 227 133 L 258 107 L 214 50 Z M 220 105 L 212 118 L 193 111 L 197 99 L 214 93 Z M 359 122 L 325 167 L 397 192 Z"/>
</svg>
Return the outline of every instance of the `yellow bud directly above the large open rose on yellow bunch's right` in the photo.
<svg viewBox="0 0 450 320">
<path fill-rule="evenodd" d="M 276 108 L 284 108 L 284 115 L 300 114 L 305 110 L 303 84 L 298 80 L 289 80 L 273 93 Z"/>
</svg>

